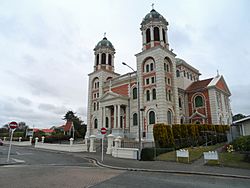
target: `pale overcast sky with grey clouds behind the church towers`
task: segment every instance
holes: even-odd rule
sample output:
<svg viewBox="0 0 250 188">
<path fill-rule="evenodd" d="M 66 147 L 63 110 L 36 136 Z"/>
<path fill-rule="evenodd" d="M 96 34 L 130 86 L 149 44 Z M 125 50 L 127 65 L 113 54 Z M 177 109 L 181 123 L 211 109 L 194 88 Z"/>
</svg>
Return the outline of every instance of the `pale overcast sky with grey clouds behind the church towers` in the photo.
<svg viewBox="0 0 250 188">
<path fill-rule="evenodd" d="M 169 22 L 177 57 L 197 68 L 200 79 L 222 74 L 233 113 L 250 115 L 250 1 L 155 0 Z M 86 122 L 88 73 L 93 48 L 107 33 L 115 70 L 136 67 L 140 23 L 152 0 L 1 0 L 0 126 L 64 124 L 68 110 Z"/>
</svg>

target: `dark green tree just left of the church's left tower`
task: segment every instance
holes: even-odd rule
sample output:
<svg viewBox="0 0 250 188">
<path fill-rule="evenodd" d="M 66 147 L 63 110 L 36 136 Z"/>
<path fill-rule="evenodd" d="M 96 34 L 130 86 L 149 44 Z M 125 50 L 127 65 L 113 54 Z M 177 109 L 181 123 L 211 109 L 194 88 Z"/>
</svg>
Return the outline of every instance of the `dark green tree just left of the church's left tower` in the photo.
<svg viewBox="0 0 250 188">
<path fill-rule="evenodd" d="M 66 121 L 71 121 L 73 122 L 73 126 L 75 129 L 75 137 L 78 138 L 85 138 L 85 133 L 87 131 L 87 126 L 86 124 L 84 124 L 84 122 L 78 117 L 76 116 L 76 113 L 73 111 L 68 111 L 65 115 L 64 115 L 64 120 Z"/>
</svg>

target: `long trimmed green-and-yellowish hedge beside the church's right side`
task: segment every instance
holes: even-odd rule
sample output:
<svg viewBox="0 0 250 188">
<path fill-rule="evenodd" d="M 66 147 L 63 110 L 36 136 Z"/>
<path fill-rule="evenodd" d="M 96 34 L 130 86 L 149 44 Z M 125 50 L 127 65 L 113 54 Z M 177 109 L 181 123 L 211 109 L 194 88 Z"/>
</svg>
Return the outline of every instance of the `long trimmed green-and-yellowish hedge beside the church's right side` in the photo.
<svg viewBox="0 0 250 188">
<path fill-rule="evenodd" d="M 156 147 L 177 149 L 190 146 L 204 145 L 206 140 L 210 144 L 225 142 L 228 125 L 210 124 L 155 124 L 153 128 Z"/>
</svg>

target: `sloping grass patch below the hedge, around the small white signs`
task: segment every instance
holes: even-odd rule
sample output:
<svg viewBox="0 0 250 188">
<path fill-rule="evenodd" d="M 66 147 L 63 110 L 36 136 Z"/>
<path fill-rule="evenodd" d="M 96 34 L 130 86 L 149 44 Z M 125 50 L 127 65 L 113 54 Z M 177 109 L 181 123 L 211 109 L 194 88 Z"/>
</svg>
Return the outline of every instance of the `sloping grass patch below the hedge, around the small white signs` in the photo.
<svg viewBox="0 0 250 188">
<path fill-rule="evenodd" d="M 199 147 L 186 148 L 186 149 L 188 149 L 188 151 L 189 151 L 190 162 L 193 162 L 193 161 L 199 159 L 203 155 L 203 152 L 214 151 L 215 149 L 217 149 L 221 146 L 223 146 L 223 144 L 216 144 L 213 146 L 199 146 Z M 172 152 L 161 154 L 161 155 L 157 156 L 156 160 L 176 161 L 176 152 L 172 151 Z M 179 158 L 179 162 L 187 163 L 188 161 L 186 158 Z"/>
</svg>

